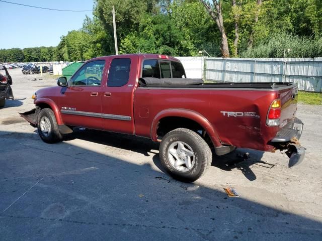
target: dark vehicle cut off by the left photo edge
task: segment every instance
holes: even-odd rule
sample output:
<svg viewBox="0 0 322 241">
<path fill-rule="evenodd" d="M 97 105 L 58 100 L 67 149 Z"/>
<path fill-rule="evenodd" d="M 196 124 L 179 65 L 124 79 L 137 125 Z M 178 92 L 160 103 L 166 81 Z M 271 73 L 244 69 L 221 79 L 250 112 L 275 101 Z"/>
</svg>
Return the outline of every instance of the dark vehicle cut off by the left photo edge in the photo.
<svg viewBox="0 0 322 241">
<path fill-rule="evenodd" d="M 12 78 L 5 66 L 2 66 L 3 70 L 0 72 L 0 108 L 6 104 L 6 99 L 14 99 L 12 92 Z"/>
</svg>

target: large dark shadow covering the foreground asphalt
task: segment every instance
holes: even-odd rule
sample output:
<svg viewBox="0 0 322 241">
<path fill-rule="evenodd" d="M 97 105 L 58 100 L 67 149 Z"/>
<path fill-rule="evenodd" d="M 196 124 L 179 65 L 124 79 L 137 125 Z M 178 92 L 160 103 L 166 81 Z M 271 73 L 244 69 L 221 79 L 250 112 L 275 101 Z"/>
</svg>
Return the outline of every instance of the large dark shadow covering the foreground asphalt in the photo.
<svg viewBox="0 0 322 241">
<path fill-rule="evenodd" d="M 120 144 L 115 134 L 89 136 L 83 139 L 148 155 L 157 147 L 136 138 Z M 129 162 L 72 141 L 45 144 L 34 133 L 2 131 L 0 142 L 6 143 L 0 231 L 7 240 L 93 240 L 93 233 L 109 240 L 284 241 L 322 235 L 319 221 L 176 181 L 137 154 Z"/>
</svg>

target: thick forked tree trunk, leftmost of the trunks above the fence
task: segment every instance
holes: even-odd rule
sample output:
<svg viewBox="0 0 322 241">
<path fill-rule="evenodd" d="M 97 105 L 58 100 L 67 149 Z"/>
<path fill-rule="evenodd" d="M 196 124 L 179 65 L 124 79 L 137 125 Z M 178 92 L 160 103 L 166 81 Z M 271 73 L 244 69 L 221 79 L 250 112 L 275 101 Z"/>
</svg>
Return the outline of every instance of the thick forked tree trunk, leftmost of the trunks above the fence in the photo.
<svg viewBox="0 0 322 241">
<path fill-rule="evenodd" d="M 200 0 L 200 1 L 205 6 L 211 18 L 216 22 L 219 32 L 221 33 L 220 51 L 221 51 L 222 57 L 229 58 L 228 41 L 227 41 L 225 28 L 223 26 L 223 18 L 222 18 L 220 2 L 213 0 L 212 2 L 213 2 L 214 9 L 212 9 L 210 5 L 206 3 L 206 1 L 204 0 Z"/>
</svg>

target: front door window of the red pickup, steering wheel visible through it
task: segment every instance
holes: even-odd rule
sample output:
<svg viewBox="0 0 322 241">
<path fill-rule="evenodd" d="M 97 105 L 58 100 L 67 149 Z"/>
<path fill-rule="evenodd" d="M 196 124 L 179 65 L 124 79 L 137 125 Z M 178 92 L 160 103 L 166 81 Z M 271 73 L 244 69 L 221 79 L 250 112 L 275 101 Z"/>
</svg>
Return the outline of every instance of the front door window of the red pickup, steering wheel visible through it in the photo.
<svg viewBox="0 0 322 241">
<path fill-rule="evenodd" d="M 81 67 L 69 80 L 69 86 L 100 86 L 105 60 L 89 62 Z"/>
</svg>

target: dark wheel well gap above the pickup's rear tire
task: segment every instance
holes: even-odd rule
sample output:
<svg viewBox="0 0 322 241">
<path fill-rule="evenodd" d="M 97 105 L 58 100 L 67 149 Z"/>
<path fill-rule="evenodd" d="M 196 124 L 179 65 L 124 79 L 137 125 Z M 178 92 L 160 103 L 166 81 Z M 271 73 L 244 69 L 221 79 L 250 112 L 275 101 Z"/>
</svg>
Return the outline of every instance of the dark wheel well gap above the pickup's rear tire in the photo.
<svg viewBox="0 0 322 241">
<path fill-rule="evenodd" d="M 160 119 L 156 129 L 156 135 L 159 139 L 162 139 L 162 137 L 164 137 L 168 132 L 177 128 L 186 128 L 194 131 L 198 133 L 209 145 L 212 144 L 205 129 L 199 123 L 185 117 L 168 116 Z"/>
</svg>

